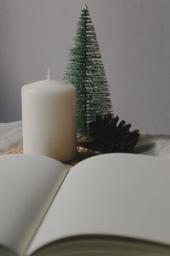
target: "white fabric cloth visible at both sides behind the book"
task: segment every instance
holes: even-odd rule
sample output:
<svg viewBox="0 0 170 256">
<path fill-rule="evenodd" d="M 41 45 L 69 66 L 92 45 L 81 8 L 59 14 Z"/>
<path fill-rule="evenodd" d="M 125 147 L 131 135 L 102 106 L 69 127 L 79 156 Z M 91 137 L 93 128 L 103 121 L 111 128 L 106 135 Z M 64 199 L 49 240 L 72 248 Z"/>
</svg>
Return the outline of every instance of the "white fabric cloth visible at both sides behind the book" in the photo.
<svg viewBox="0 0 170 256">
<path fill-rule="evenodd" d="M 0 123 L 0 154 L 22 147 L 22 122 Z M 142 133 L 134 153 L 170 159 L 170 135 Z"/>
</svg>

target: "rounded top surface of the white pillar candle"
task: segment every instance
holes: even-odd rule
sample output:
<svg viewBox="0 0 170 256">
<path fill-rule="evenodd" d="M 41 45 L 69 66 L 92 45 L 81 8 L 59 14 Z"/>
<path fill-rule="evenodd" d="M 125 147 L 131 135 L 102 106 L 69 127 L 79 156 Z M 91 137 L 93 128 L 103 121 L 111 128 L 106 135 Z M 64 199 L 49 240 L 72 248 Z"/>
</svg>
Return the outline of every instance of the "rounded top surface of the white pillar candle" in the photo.
<svg viewBox="0 0 170 256">
<path fill-rule="evenodd" d="M 26 84 L 22 87 L 22 90 L 29 90 L 30 92 L 64 92 L 68 90 L 76 90 L 75 86 L 63 81 L 56 81 L 52 79 L 41 80 L 31 84 Z"/>
</svg>

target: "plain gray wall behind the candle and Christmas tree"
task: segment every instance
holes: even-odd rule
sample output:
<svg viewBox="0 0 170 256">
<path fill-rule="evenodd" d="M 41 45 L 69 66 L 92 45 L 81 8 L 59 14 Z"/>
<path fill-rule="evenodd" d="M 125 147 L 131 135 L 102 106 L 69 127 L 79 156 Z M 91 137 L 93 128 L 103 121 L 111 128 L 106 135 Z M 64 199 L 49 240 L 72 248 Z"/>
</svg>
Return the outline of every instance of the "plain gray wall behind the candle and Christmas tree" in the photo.
<svg viewBox="0 0 170 256">
<path fill-rule="evenodd" d="M 21 119 L 20 88 L 62 79 L 80 0 L 0 1 L 0 122 Z M 114 112 L 150 133 L 170 133 L 170 1 L 87 0 Z"/>
</svg>

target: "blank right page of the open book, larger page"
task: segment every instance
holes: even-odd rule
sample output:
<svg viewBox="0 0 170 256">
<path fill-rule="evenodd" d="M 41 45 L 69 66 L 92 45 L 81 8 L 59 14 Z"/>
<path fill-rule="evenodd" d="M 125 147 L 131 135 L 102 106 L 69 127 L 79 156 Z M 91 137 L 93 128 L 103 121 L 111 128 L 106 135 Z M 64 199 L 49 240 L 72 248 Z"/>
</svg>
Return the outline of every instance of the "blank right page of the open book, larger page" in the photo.
<svg viewBox="0 0 170 256">
<path fill-rule="evenodd" d="M 170 161 L 103 154 L 74 166 L 28 253 L 66 236 L 106 234 L 170 242 Z"/>
</svg>

